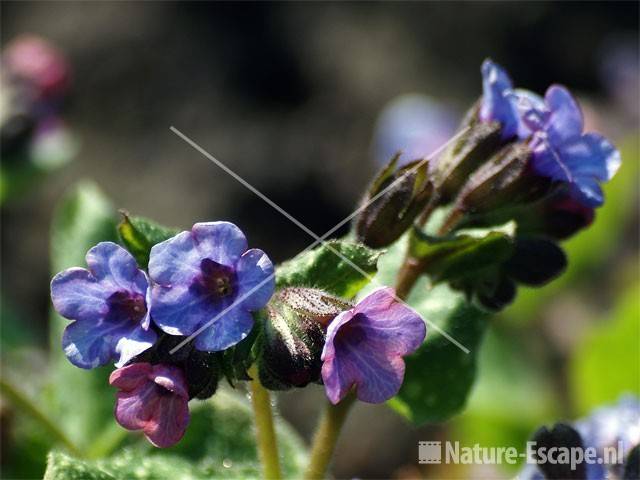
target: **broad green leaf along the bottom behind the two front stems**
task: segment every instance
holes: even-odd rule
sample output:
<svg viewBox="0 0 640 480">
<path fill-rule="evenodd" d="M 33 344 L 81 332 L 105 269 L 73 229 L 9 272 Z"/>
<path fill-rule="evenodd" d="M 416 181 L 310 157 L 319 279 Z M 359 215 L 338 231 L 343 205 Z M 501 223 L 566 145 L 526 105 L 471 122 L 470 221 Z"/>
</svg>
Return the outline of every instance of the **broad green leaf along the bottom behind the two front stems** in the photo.
<svg viewBox="0 0 640 480">
<path fill-rule="evenodd" d="M 160 450 L 141 440 L 98 461 L 52 452 L 45 480 L 260 478 L 252 413 L 246 399 L 222 391 L 191 406 L 191 424 L 178 445 Z M 302 440 L 281 419 L 276 422 L 276 432 L 284 477 L 300 477 L 307 460 Z"/>
</svg>

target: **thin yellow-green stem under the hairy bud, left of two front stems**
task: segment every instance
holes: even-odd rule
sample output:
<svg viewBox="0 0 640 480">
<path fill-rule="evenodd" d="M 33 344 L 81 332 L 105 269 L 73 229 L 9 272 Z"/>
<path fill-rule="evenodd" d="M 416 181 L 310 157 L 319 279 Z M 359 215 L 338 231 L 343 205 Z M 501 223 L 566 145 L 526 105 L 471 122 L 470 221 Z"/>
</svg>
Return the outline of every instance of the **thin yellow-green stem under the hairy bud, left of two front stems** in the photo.
<svg viewBox="0 0 640 480">
<path fill-rule="evenodd" d="M 253 378 L 251 384 L 251 403 L 255 415 L 256 437 L 258 453 L 262 464 L 262 473 L 268 480 L 282 478 L 280 472 L 280 457 L 278 456 L 278 443 L 276 431 L 273 427 L 273 415 L 271 412 L 271 397 L 258 379 L 258 368 L 254 364 L 249 369 L 249 375 Z"/>
</svg>

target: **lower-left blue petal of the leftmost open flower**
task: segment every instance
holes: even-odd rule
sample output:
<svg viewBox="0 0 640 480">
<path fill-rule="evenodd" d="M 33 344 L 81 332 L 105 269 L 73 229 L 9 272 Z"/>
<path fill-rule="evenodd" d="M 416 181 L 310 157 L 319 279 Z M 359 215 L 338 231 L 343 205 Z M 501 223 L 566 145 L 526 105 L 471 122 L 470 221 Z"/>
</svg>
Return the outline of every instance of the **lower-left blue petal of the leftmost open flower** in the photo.
<svg viewBox="0 0 640 480">
<path fill-rule="evenodd" d="M 138 325 L 122 322 L 73 322 L 64 330 L 62 346 L 71 363 L 80 368 L 95 368 L 115 359 L 116 344 L 128 337 Z"/>
</svg>

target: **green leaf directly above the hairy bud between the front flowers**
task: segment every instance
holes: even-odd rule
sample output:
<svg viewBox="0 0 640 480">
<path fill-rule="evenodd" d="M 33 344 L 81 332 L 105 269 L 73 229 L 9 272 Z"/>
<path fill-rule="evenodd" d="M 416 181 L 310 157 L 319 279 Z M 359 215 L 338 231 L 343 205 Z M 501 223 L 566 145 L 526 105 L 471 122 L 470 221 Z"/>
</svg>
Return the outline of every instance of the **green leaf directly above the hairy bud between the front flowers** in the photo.
<svg viewBox="0 0 640 480">
<path fill-rule="evenodd" d="M 280 265 L 276 269 L 276 285 L 317 288 L 352 298 L 369 283 L 367 276 L 376 273 L 380 255 L 359 243 L 332 240 Z"/>
</svg>

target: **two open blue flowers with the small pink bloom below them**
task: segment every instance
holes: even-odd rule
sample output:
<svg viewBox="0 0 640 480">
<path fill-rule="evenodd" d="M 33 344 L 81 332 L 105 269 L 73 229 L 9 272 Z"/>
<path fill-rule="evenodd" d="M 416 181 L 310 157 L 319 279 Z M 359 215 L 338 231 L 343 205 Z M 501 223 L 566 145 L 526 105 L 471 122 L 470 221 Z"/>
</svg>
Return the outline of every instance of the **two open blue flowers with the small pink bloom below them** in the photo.
<svg viewBox="0 0 640 480">
<path fill-rule="evenodd" d="M 273 293 L 273 265 L 261 250 L 248 250 L 228 222 L 197 223 L 155 245 L 148 275 L 112 242 L 93 247 L 86 261 L 87 269 L 70 268 L 51 281 L 55 309 L 73 320 L 63 335 L 65 354 L 81 368 L 115 361 L 118 422 L 143 430 L 155 445 L 171 445 L 189 419 L 189 372 L 171 365 L 180 355 L 156 355 L 163 362 L 156 365 L 136 358 L 167 336 L 196 335 L 195 348 L 209 352 L 240 342 L 253 327 L 252 312 Z"/>
</svg>

